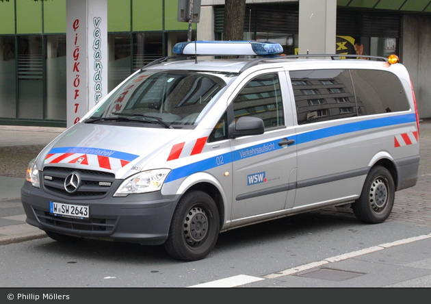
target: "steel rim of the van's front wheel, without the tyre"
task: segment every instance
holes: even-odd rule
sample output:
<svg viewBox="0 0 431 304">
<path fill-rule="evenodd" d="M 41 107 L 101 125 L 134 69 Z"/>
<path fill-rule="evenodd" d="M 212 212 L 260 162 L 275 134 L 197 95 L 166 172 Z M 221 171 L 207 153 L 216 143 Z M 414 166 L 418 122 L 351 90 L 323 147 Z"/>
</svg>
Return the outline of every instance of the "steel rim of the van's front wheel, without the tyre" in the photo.
<svg viewBox="0 0 431 304">
<path fill-rule="evenodd" d="M 198 246 L 208 233 L 208 217 L 202 207 L 194 206 L 185 214 L 183 236 L 190 246 Z"/>
</svg>

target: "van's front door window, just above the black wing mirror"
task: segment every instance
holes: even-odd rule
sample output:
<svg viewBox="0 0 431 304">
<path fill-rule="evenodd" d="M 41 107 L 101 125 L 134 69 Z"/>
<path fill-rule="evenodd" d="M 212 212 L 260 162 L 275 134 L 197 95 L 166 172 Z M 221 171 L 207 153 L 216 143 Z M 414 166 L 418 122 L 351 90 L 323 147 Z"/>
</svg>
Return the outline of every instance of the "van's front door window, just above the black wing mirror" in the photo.
<svg viewBox="0 0 431 304">
<path fill-rule="evenodd" d="M 233 101 L 235 121 L 241 116 L 255 116 L 263 120 L 265 129 L 285 125 L 278 75 L 256 77 L 242 88 Z"/>
</svg>

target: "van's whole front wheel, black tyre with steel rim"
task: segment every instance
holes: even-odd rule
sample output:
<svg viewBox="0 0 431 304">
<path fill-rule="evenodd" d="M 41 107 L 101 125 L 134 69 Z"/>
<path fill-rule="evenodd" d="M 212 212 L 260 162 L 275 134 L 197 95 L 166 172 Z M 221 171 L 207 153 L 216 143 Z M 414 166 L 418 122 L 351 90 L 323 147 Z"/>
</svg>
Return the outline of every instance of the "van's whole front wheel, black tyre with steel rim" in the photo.
<svg viewBox="0 0 431 304">
<path fill-rule="evenodd" d="M 220 216 L 213 199 L 205 192 L 186 193 L 179 201 L 164 247 L 183 261 L 203 259 L 213 249 L 220 233 Z"/>
</svg>

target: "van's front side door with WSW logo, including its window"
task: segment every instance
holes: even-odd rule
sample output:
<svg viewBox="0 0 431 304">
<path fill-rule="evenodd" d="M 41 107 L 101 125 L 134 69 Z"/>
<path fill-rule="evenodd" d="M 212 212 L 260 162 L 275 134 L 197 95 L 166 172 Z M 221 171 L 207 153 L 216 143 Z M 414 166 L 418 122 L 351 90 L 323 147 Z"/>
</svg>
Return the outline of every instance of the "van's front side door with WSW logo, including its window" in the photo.
<svg viewBox="0 0 431 304">
<path fill-rule="evenodd" d="M 231 139 L 233 204 L 231 220 L 292 207 L 287 203 L 291 175 L 296 179 L 295 129 L 282 69 L 253 73 L 233 94 L 235 121 L 241 116 L 263 120 L 265 133 Z M 291 187 L 293 188 L 293 187 Z M 250 218 L 252 220 L 252 218 Z"/>
</svg>

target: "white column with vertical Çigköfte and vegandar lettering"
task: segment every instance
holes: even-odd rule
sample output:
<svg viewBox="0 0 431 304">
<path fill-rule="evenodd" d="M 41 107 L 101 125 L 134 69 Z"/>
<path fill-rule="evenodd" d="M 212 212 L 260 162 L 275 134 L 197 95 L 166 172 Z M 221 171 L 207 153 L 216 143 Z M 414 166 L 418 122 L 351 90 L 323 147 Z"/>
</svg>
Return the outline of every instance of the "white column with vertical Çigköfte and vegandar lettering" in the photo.
<svg viewBox="0 0 431 304">
<path fill-rule="evenodd" d="M 107 95 L 107 0 L 66 0 L 67 127 Z"/>
</svg>

